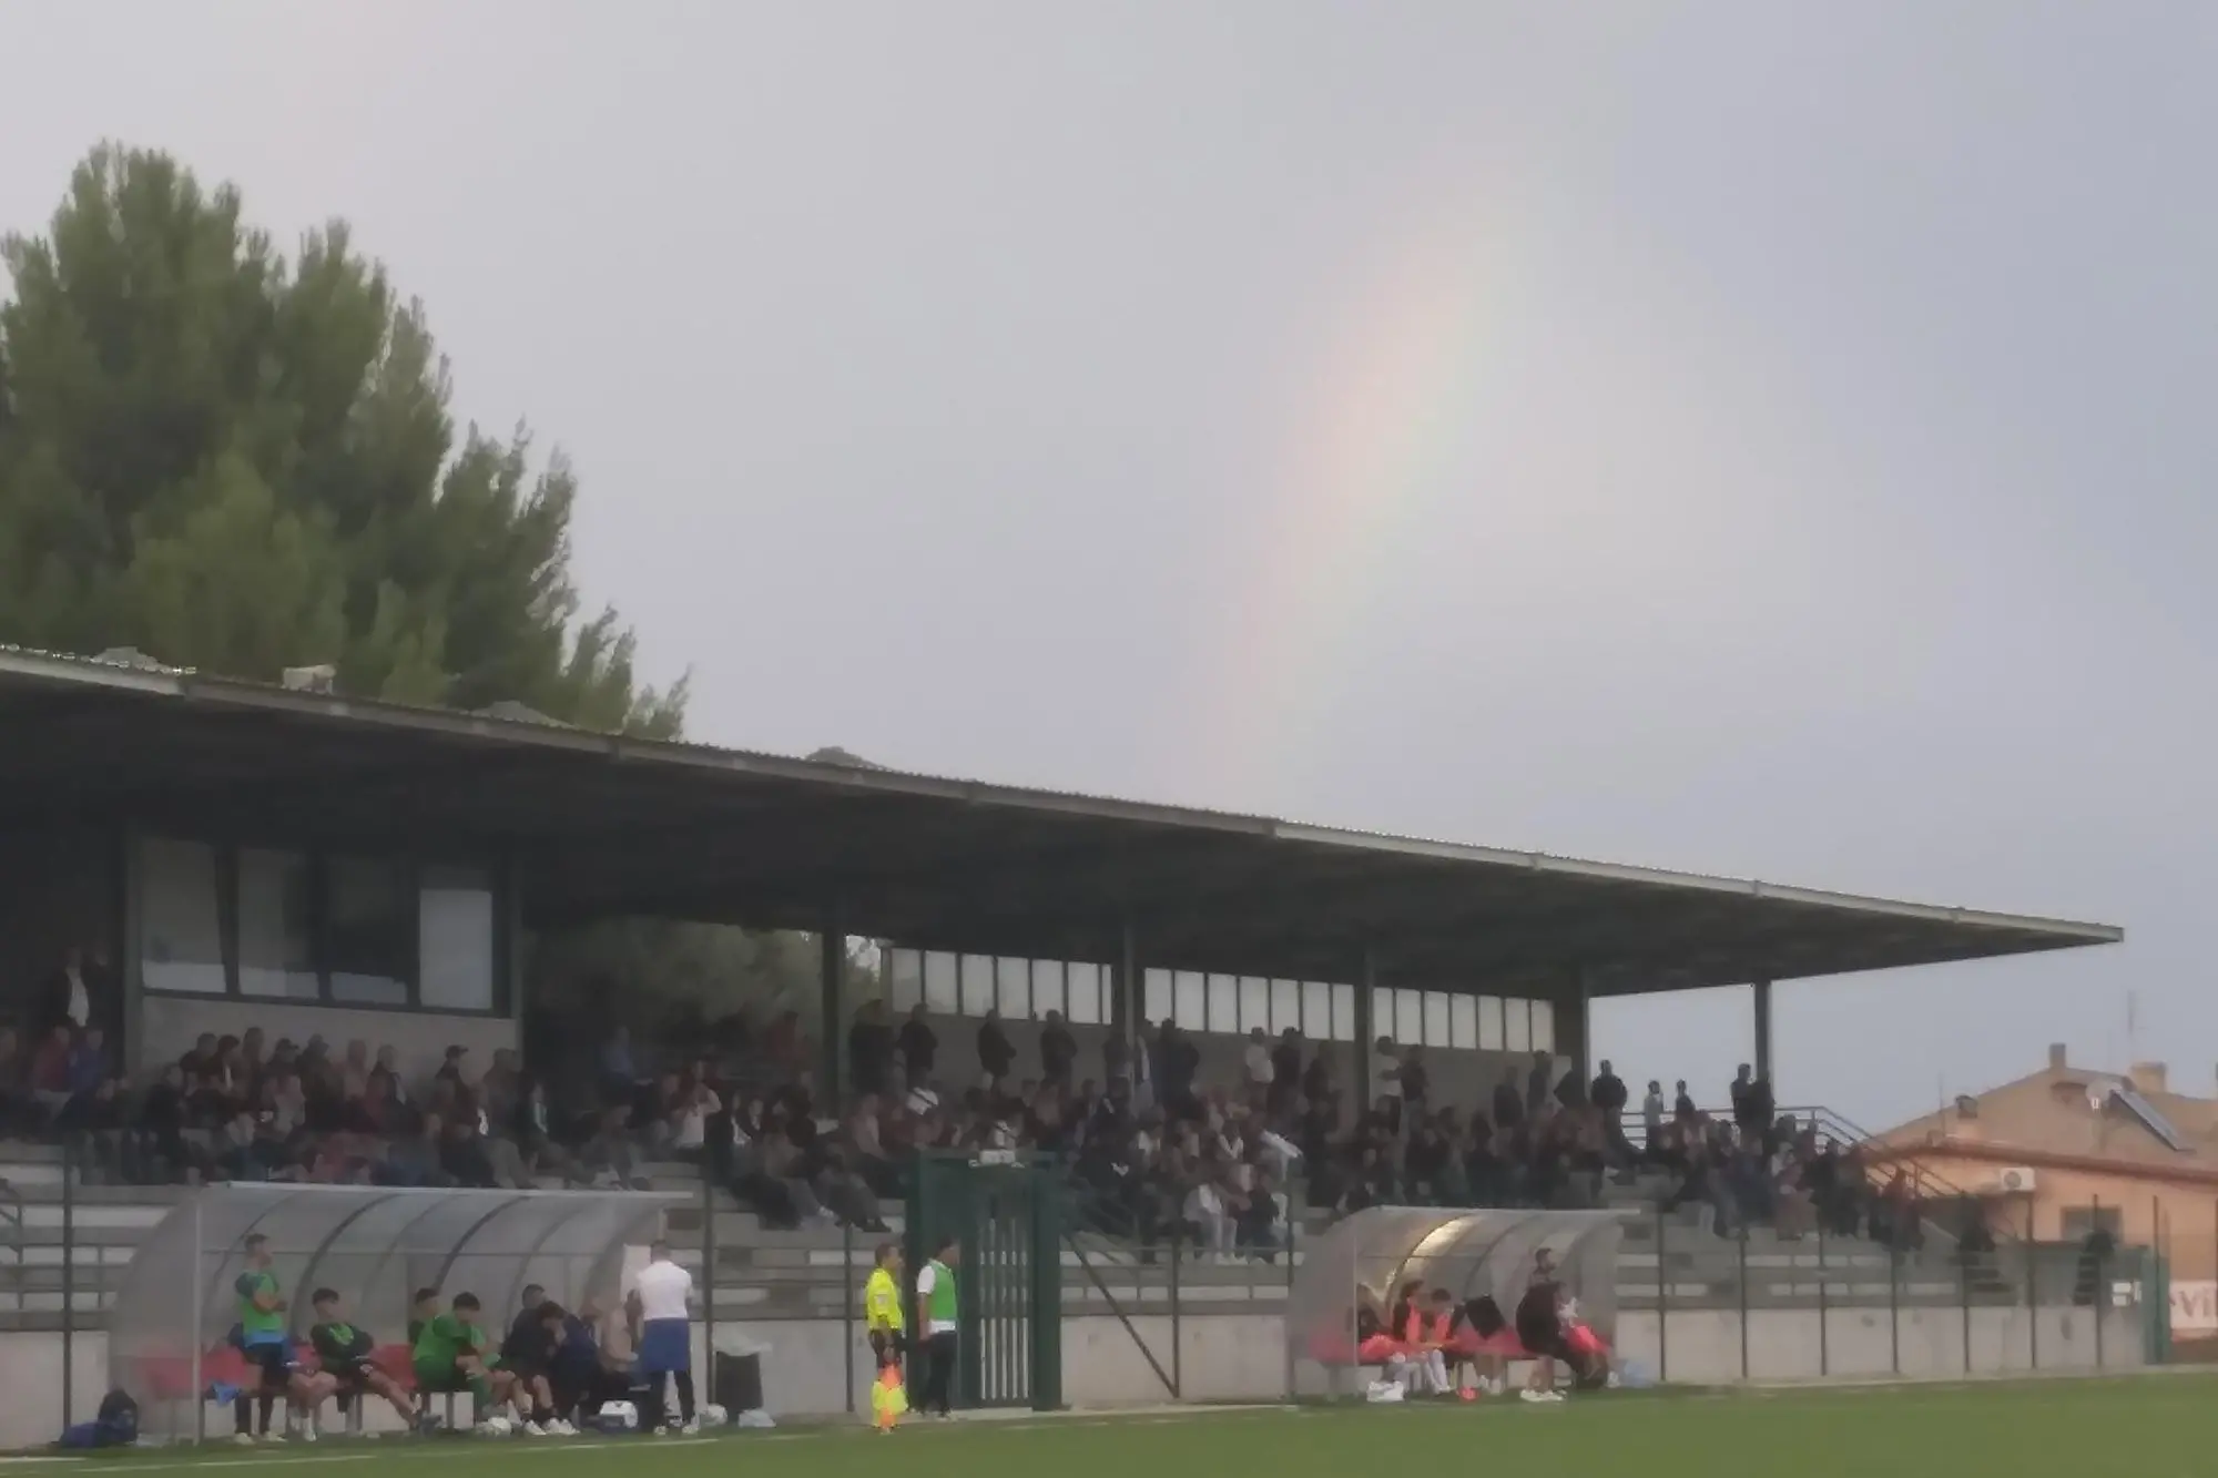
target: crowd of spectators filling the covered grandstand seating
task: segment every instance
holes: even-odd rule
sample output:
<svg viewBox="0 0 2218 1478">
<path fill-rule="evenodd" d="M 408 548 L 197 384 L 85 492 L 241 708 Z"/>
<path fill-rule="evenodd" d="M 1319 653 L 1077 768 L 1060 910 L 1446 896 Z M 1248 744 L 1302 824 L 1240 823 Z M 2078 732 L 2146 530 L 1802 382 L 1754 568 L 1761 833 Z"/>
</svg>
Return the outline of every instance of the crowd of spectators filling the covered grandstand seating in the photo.
<svg viewBox="0 0 2218 1478">
<path fill-rule="evenodd" d="M 1781 1116 L 1748 1067 L 1730 1114 L 1686 1083 L 1650 1081 L 1639 1107 L 1604 1061 L 1593 1081 L 1533 1054 L 1479 1103 L 1448 1103 L 1422 1047 L 1380 1039 L 1373 1101 L 1340 1081 L 1335 1047 L 1253 1032 L 1235 1076 L 1202 1081 L 1176 1023 L 1107 1036 L 1098 1072 L 1049 1012 L 1029 1054 L 987 1014 L 978 1079 L 938 1074 L 938 1027 L 863 1005 L 847 1030 L 845 1103 L 818 1103 L 814 1047 L 794 1012 L 685 1023 L 659 1045 L 608 1032 L 594 1072 L 552 1092 L 517 1052 L 484 1067 L 450 1047 L 408 1081 L 390 1045 L 335 1050 L 264 1032 L 202 1036 L 144 1092 L 118 1076 L 104 1032 L 62 1019 L 27 1047 L 0 1030 L 0 1127 L 82 1145 L 118 1181 L 317 1181 L 401 1187 L 645 1185 L 650 1161 L 694 1161 L 767 1225 L 881 1232 L 916 1150 L 1062 1156 L 1082 1214 L 1147 1247 L 1271 1256 L 1293 1198 L 1331 1214 L 1369 1205 L 1593 1207 L 1637 1185 L 1695 1207 L 1721 1236 L 1772 1225 L 1910 1243 L 1921 1212 L 1905 1176 L 1885 1190 L 1854 1145 Z M 1344 1052 L 1344 1050 L 1337 1050 Z M 1020 1061 L 1027 1059 L 1027 1061 Z"/>
</svg>

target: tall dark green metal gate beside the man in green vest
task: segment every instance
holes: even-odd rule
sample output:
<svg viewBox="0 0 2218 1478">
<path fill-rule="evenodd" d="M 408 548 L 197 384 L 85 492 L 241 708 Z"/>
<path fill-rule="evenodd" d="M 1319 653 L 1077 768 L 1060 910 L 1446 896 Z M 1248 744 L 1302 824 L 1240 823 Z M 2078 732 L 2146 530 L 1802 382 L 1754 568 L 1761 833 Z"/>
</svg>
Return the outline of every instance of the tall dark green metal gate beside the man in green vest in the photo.
<svg viewBox="0 0 2218 1478">
<path fill-rule="evenodd" d="M 909 1267 L 923 1267 L 943 1236 L 960 1249 L 958 1405 L 1054 1411 L 1062 1405 L 1062 1181 L 1054 1165 L 1014 1152 L 920 1154 Z M 912 1316 L 909 1327 L 923 1323 Z"/>
</svg>

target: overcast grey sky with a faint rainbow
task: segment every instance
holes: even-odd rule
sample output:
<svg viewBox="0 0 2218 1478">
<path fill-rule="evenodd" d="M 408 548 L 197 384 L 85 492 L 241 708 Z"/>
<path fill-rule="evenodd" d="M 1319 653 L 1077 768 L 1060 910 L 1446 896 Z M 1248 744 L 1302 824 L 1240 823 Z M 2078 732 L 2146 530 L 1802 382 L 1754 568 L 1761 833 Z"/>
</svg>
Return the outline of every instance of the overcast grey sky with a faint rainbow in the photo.
<svg viewBox="0 0 2218 1478">
<path fill-rule="evenodd" d="M 694 737 L 2118 923 L 1788 983 L 1783 1103 L 2218 1090 L 2218 7 L 0 0 L 342 215 Z M 1721 1096 L 1748 992 L 1597 1008 Z"/>
</svg>

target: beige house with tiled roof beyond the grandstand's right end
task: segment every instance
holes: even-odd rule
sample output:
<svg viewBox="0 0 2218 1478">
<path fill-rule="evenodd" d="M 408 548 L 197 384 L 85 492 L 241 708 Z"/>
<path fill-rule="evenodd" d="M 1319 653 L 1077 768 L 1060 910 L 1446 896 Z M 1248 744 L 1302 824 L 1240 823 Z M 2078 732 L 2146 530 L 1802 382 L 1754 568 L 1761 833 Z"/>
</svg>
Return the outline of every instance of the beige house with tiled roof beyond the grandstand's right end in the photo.
<svg viewBox="0 0 2218 1478">
<path fill-rule="evenodd" d="M 2180 1092 L 2165 1063 L 2100 1072 L 2049 1047 L 2029 1076 L 1876 1136 L 1927 1194 L 1974 1194 L 1996 1234 L 2156 1247 L 2171 1329 L 2218 1336 L 2218 1076 Z"/>
</svg>

